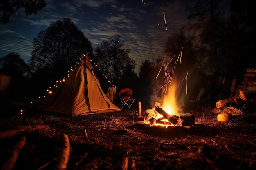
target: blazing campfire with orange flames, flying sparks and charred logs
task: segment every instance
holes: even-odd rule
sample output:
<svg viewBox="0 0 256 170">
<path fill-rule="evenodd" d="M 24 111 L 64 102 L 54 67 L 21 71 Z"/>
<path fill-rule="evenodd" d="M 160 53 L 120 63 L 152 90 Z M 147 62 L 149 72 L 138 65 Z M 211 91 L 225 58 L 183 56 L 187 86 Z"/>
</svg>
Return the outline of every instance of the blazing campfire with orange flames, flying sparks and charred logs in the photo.
<svg viewBox="0 0 256 170">
<path fill-rule="evenodd" d="M 158 91 L 161 91 L 161 95 L 155 95 L 151 98 L 157 99 L 161 103 L 154 102 L 152 108 L 146 110 L 144 121 L 138 122 L 141 127 L 184 130 L 188 126 L 198 126 L 195 125 L 195 116 L 190 113 L 183 113 L 181 109 L 182 100 L 188 94 L 188 71 L 184 71 L 184 68 L 180 67 L 181 53 L 176 61 L 174 59 L 175 57 L 165 64 L 166 60 L 163 58 L 164 64 L 156 77 L 156 79 L 160 79 L 156 82 L 162 85 L 155 86 L 159 87 Z"/>
</svg>

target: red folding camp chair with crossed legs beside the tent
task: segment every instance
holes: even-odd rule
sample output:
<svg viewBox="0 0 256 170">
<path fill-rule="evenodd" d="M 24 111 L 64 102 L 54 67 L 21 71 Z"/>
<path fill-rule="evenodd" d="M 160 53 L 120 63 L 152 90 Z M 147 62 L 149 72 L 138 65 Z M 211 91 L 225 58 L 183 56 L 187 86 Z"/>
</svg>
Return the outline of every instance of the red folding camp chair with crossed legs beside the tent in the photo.
<svg viewBox="0 0 256 170">
<path fill-rule="evenodd" d="M 135 107 L 134 101 L 136 99 L 132 98 L 132 95 L 133 95 L 133 92 L 132 92 L 132 89 L 130 88 L 124 88 L 119 91 L 119 97 L 122 103 L 120 106 L 121 109 L 124 108 L 124 106 L 128 108 L 131 108 L 132 106 Z"/>
</svg>

